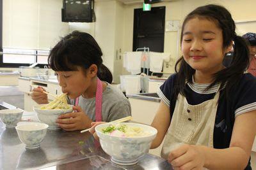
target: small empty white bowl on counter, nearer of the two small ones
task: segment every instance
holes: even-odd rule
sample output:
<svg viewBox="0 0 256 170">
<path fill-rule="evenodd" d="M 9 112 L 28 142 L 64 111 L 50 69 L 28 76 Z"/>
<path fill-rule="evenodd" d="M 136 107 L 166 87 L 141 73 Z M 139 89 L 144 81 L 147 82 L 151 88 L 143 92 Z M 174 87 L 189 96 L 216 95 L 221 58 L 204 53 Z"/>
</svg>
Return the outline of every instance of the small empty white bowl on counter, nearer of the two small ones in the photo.
<svg viewBox="0 0 256 170">
<path fill-rule="evenodd" d="M 40 147 L 47 132 L 47 124 L 27 123 L 15 127 L 20 141 L 26 145 L 26 150 L 35 150 Z"/>
</svg>

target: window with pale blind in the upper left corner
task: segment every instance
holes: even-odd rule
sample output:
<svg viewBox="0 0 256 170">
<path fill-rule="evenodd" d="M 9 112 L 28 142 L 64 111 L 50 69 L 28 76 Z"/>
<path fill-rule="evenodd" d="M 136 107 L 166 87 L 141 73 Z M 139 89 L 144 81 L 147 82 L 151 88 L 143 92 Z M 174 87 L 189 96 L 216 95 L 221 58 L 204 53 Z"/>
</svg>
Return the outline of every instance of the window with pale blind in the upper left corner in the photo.
<svg viewBox="0 0 256 170">
<path fill-rule="evenodd" d="M 0 0 L 0 67 L 47 64 L 49 49 L 69 31 L 62 6 L 63 0 Z"/>
</svg>

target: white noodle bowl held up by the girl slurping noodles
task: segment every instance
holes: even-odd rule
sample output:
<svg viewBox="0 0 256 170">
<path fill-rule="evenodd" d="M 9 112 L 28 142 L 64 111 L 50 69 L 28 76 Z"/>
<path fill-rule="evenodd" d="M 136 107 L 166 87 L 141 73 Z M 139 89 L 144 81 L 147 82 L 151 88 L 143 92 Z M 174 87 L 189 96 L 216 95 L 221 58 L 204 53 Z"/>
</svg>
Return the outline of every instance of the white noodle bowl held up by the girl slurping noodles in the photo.
<svg viewBox="0 0 256 170">
<path fill-rule="evenodd" d="M 43 122 L 47 125 L 49 125 L 48 129 L 51 131 L 55 131 L 58 129 L 61 129 L 61 127 L 56 124 L 56 120 L 58 116 L 64 113 L 71 113 L 73 111 L 72 105 L 68 104 L 70 106 L 70 109 L 68 110 L 42 110 L 40 109 L 45 104 L 39 104 L 37 106 L 34 106 L 33 109 L 36 112 L 37 118 L 40 120 L 40 122 Z"/>
</svg>

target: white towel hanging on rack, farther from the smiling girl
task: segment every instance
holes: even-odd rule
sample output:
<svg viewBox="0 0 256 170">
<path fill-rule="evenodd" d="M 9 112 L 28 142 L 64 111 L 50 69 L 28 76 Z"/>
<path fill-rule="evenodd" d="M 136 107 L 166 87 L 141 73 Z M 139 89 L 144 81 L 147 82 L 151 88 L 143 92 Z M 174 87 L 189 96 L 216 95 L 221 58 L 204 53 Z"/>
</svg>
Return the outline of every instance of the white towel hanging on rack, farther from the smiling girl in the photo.
<svg viewBox="0 0 256 170">
<path fill-rule="evenodd" d="M 141 55 L 142 52 L 125 52 L 124 54 L 124 67 L 131 74 L 141 73 Z"/>
</svg>

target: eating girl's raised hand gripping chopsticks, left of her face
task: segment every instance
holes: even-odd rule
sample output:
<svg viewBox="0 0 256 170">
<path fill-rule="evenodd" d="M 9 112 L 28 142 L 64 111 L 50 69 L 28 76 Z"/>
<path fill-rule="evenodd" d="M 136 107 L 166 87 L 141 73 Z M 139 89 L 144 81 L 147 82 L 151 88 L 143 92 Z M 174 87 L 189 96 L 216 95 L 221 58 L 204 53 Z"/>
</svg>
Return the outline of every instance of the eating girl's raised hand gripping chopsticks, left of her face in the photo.
<svg viewBox="0 0 256 170">
<path fill-rule="evenodd" d="M 44 94 L 45 91 L 44 88 L 38 86 L 37 88 L 32 90 L 31 98 L 33 101 L 35 101 L 37 104 L 47 104 L 49 103 L 47 94 Z"/>
</svg>

